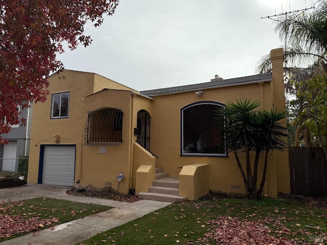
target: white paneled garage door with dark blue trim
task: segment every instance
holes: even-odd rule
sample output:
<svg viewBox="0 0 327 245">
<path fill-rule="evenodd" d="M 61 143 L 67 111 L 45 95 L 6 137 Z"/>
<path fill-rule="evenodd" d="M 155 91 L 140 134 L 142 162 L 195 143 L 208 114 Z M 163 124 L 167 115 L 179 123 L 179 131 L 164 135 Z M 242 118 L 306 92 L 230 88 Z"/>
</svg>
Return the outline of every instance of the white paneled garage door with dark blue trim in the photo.
<svg viewBox="0 0 327 245">
<path fill-rule="evenodd" d="M 74 186 L 75 146 L 44 146 L 42 184 Z"/>
</svg>

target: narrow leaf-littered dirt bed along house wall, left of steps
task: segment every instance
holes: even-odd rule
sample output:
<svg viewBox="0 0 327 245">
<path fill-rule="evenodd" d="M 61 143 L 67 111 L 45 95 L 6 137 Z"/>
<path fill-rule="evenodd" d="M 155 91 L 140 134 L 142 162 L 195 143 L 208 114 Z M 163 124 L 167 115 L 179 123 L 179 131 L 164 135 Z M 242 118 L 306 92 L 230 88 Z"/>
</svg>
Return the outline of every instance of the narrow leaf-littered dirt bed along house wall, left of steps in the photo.
<svg viewBox="0 0 327 245">
<path fill-rule="evenodd" d="M 78 195 L 79 197 L 89 197 L 89 198 L 102 198 L 119 202 L 133 203 L 141 199 L 137 198 L 135 195 L 124 194 L 124 193 L 112 193 L 106 191 L 78 191 L 76 188 L 67 190 L 68 195 Z"/>
</svg>

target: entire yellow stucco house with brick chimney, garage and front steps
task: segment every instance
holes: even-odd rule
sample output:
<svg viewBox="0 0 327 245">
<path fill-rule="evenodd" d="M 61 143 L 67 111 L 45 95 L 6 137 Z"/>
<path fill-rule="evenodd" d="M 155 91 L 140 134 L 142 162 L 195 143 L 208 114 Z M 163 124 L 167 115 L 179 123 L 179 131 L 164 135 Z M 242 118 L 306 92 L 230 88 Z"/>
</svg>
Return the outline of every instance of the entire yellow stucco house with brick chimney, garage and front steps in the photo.
<svg viewBox="0 0 327 245">
<path fill-rule="evenodd" d="M 245 193 L 213 110 L 241 97 L 285 110 L 283 55 L 271 51 L 272 75 L 141 92 L 89 72 L 53 74 L 48 100 L 34 105 L 28 182 L 167 201 Z M 287 149 L 271 153 L 264 194 L 289 193 L 289 181 Z"/>
</svg>

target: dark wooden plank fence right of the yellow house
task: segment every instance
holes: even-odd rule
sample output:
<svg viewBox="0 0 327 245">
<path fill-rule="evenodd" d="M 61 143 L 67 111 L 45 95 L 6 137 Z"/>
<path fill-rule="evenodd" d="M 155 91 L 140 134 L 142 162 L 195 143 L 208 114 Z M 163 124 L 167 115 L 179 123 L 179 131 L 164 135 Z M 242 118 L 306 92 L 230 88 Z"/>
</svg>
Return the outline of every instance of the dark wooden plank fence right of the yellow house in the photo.
<svg viewBox="0 0 327 245">
<path fill-rule="evenodd" d="M 321 148 L 289 149 L 291 193 L 327 197 L 327 160 Z"/>
</svg>

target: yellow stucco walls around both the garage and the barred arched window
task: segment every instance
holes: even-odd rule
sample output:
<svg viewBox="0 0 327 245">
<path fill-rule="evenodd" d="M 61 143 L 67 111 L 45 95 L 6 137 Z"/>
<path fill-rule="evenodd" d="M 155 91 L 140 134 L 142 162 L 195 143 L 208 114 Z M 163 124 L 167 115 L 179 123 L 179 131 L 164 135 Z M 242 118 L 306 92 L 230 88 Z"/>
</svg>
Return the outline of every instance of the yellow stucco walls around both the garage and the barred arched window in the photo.
<svg viewBox="0 0 327 245">
<path fill-rule="evenodd" d="M 99 188 L 104 187 L 104 182 L 112 182 L 112 187 L 116 188 L 116 175 L 123 171 L 123 174 L 129 176 L 130 154 L 130 91 L 104 93 L 98 92 L 103 88 L 127 88 L 121 84 L 115 84 L 112 80 L 106 79 L 102 76 L 89 72 L 63 70 L 58 74 L 53 74 L 48 78 L 50 83 L 48 95 L 44 103 L 35 103 L 33 110 L 32 132 L 31 132 L 31 150 L 29 161 L 28 182 L 37 183 L 39 174 L 39 160 L 40 160 L 40 145 L 76 145 L 76 159 L 75 159 L 75 182 L 81 180 L 81 184 L 87 186 L 89 184 Z M 68 118 L 51 119 L 51 99 L 53 93 L 69 92 L 69 112 Z M 95 95 L 88 96 L 98 92 Z M 107 94 L 107 95 L 105 95 Z M 95 97 L 96 96 L 96 97 Z M 102 106 L 110 106 L 116 108 L 123 108 L 124 111 L 124 129 L 122 147 L 116 148 L 115 153 L 112 154 L 112 149 L 108 151 L 106 156 L 110 155 L 110 160 L 106 156 L 99 155 L 99 148 L 86 148 L 83 146 L 84 128 L 86 120 L 86 111 L 94 110 Z M 59 135 L 59 143 L 55 143 L 54 135 Z M 86 150 L 84 150 L 86 149 Z M 82 153 L 84 150 L 85 153 Z M 97 159 L 90 161 L 88 155 L 94 153 Z M 120 157 L 123 156 L 123 157 Z M 107 170 L 109 165 L 118 166 L 104 172 L 100 166 L 104 165 Z M 86 164 L 85 164 L 86 163 Z M 115 164 L 114 164 L 115 163 Z M 120 163 L 123 163 L 122 165 Z M 88 165 L 89 164 L 89 165 Z M 107 165 L 106 165 L 107 164 Z M 94 167 L 94 169 L 93 169 Z M 116 173 L 118 172 L 118 173 Z M 90 174 L 91 173 L 91 174 Z M 100 178 L 98 177 L 100 176 Z M 114 176 L 114 177 L 113 177 Z M 128 178 L 121 182 L 120 189 L 127 192 Z"/>
</svg>

